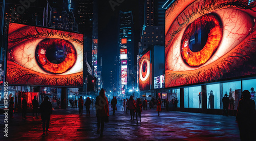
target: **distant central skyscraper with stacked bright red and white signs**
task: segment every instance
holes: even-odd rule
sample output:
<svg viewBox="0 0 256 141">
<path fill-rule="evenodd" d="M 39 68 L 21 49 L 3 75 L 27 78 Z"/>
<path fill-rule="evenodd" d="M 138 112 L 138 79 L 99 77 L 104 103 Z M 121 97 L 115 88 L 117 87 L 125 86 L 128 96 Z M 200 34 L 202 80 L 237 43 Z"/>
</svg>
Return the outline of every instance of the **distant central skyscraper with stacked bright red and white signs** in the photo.
<svg viewBox="0 0 256 141">
<path fill-rule="evenodd" d="M 134 35 L 132 11 L 119 13 L 119 39 L 121 91 L 124 95 L 128 89 L 135 87 Z M 120 88 L 120 87 L 119 87 Z"/>
</svg>

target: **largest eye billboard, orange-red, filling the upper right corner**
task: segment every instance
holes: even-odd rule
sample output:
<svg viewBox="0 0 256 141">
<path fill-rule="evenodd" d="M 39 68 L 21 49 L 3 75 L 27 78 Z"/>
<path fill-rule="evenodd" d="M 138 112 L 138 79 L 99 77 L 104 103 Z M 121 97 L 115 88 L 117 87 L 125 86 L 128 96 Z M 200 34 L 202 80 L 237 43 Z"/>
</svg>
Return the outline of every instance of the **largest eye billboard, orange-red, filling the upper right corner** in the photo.
<svg viewBox="0 0 256 141">
<path fill-rule="evenodd" d="M 175 1 L 165 11 L 165 87 L 254 75 L 255 2 Z"/>
</svg>

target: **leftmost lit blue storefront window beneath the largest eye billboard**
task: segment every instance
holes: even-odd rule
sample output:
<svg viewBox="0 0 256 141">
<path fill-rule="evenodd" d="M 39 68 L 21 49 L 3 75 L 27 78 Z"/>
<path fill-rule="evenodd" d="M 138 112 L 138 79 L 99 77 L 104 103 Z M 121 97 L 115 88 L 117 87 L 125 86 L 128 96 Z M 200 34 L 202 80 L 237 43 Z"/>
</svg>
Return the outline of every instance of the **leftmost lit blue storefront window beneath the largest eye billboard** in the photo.
<svg viewBox="0 0 256 141">
<path fill-rule="evenodd" d="M 202 108 L 201 86 L 184 88 L 184 107 Z"/>
</svg>

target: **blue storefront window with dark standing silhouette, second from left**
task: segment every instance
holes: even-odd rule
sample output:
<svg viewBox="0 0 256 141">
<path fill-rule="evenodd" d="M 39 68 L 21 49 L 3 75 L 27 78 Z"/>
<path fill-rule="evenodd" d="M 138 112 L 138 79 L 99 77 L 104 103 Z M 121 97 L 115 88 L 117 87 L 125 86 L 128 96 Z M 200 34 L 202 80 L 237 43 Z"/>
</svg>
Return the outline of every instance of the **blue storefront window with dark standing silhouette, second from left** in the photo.
<svg viewBox="0 0 256 141">
<path fill-rule="evenodd" d="M 221 105 L 220 100 L 220 84 L 209 84 L 206 86 L 207 90 L 207 108 L 219 109 Z"/>
</svg>

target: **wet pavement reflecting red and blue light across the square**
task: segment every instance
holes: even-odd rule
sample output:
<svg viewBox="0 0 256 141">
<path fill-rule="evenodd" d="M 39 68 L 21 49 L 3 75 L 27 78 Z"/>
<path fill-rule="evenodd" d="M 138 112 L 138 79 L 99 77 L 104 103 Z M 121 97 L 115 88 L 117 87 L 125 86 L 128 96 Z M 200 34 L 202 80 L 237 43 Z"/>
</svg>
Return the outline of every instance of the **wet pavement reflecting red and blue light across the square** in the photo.
<svg viewBox="0 0 256 141">
<path fill-rule="evenodd" d="M 78 108 L 55 109 L 51 116 L 49 135 L 42 136 L 41 120 L 22 120 L 20 113 L 8 120 L 8 137 L 4 136 L 4 116 L 1 115 L 0 140 L 240 140 L 233 116 L 198 114 L 180 111 L 143 110 L 141 123 L 131 120 L 130 112 L 117 106 L 115 116 L 110 107 L 109 123 L 105 123 L 103 137 L 96 134 L 95 109 L 91 115 L 79 117 Z M 38 116 L 40 118 L 40 116 Z"/>
</svg>

